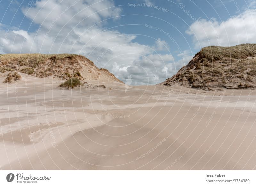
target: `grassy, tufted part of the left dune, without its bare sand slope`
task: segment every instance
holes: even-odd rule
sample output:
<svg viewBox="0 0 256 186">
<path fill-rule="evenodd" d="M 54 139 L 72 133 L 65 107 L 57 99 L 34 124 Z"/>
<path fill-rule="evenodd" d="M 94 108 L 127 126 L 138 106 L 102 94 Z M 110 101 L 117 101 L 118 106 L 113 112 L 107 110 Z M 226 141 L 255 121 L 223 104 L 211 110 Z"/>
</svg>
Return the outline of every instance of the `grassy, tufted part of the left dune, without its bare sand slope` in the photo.
<svg viewBox="0 0 256 186">
<path fill-rule="evenodd" d="M 62 79 L 84 79 L 80 73 L 84 62 L 93 64 L 89 59 L 77 54 L 1 54 L 0 72 L 5 73 L 12 69 L 41 78 L 57 76 Z"/>
</svg>

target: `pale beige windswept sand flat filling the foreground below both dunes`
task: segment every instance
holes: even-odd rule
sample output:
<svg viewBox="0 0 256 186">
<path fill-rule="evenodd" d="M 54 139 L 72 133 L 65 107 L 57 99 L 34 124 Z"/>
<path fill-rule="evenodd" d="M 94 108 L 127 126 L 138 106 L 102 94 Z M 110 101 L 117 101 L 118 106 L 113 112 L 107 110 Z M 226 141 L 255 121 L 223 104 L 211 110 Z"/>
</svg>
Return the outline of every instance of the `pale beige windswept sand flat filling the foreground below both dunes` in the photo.
<svg viewBox="0 0 256 186">
<path fill-rule="evenodd" d="M 3 170 L 256 169 L 255 90 L 71 91 L 24 76 L 0 84 Z"/>
</svg>

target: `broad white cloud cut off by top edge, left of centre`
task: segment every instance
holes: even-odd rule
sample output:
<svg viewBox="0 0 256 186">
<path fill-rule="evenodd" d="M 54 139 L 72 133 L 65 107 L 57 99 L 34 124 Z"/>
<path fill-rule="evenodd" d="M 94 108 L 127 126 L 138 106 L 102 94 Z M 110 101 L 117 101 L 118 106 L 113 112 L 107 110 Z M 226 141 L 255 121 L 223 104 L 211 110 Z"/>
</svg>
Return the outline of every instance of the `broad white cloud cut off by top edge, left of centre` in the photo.
<svg viewBox="0 0 256 186">
<path fill-rule="evenodd" d="M 23 8 L 22 12 L 34 23 L 48 29 L 52 23 L 60 28 L 74 27 L 77 24 L 92 26 L 102 19 L 119 16 L 121 9 L 115 7 L 112 0 L 41 0 L 36 1 L 33 7 Z"/>
</svg>

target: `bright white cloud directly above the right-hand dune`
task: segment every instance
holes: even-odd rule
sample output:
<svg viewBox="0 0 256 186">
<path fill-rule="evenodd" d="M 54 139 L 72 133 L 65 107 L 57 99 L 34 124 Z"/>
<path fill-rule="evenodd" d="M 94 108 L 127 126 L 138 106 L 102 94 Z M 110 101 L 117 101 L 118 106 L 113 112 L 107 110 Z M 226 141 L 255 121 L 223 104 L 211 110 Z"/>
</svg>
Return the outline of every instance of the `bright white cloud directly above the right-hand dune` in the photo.
<svg viewBox="0 0 256 186">
<path fill-rule="evenodd" d="M 193 37 L 197 47 L 209 45 L 233 46 L 242 43 L 256 43 L 256 10 L 233 16 L 226 21 L 200 19 L 186 31 Z"/>
</svg>

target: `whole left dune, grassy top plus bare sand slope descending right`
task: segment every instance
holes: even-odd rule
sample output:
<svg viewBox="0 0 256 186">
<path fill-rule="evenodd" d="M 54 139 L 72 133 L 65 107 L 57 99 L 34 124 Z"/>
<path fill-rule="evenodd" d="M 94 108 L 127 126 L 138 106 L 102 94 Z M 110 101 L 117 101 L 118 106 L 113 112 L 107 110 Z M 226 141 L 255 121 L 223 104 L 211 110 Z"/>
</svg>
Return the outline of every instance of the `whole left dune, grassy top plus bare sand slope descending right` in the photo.
<svg viewBox="0 0 256 186">
<path fill-rule="evenodd" d="M 0 55 L 0 72 L 2 76 L 7 76 L 8 73 L 13 71 L 40 78 L 56 77 L 67 80 L 71 77 L 76 77 L 88 83 L 89 81 L 123 83 L 107 69 L 99 69 L 91 60 L 76 54 Z"/>
</svg>

